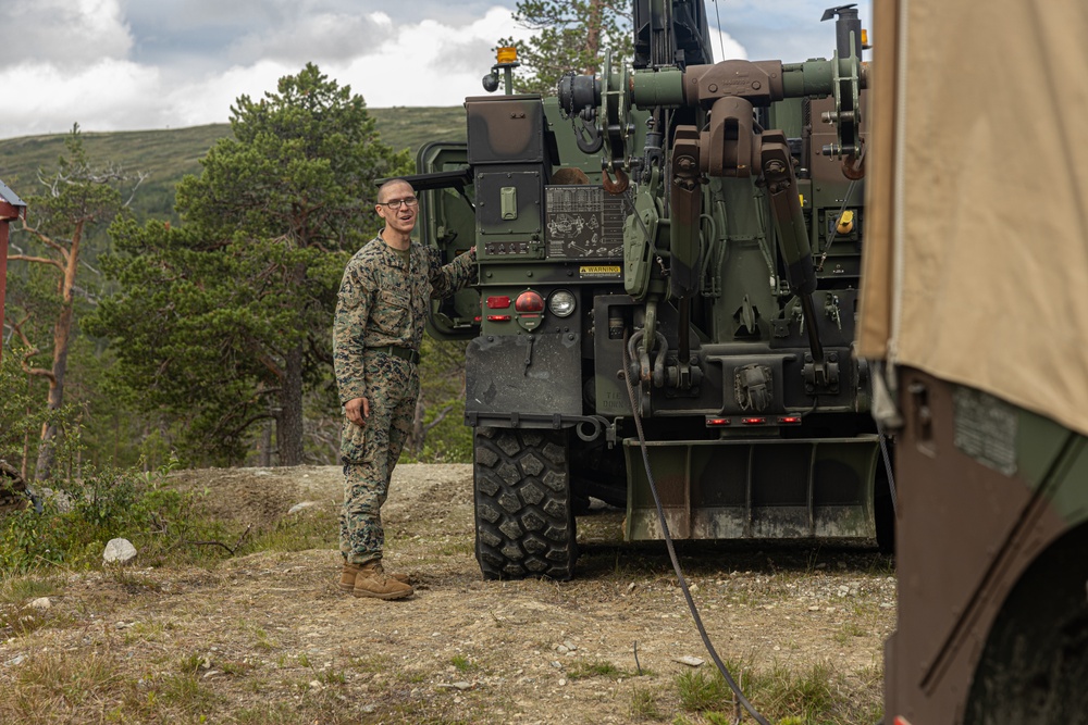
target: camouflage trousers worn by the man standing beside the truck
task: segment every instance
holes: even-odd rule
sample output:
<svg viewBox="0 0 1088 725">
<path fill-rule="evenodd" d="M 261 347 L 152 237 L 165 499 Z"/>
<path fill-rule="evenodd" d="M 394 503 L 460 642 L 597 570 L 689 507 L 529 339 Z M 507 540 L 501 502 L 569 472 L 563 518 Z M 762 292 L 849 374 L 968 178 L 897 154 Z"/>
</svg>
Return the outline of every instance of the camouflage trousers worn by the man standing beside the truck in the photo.
<svg viewBox="0 0 1088 725">
<path fill-rule="evenodd" d="M 370 415 L 361 426 L 344 418 L 341 433 L 341 553 L 354 564 L 382 558 L 382 504 L 411 433 L 419 397 L 419 371 L 412 363 L 384 353 L 366 353 L 363 363 Z"/>
</svg>

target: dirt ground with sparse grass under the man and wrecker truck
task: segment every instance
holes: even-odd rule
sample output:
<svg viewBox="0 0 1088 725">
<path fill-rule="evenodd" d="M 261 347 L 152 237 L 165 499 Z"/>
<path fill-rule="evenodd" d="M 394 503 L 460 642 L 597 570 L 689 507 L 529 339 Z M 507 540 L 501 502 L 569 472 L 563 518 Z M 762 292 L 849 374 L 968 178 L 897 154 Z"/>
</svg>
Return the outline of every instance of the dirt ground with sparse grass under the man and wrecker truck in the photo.
<svg viewBox="0 0 1088 725">
<path fill-rule="evenodd" d="M 335 467 L 177 476 L 206 488 L 220 515 L 257 526 L 332 522 L 342 496 Z M 714 664 L 665 547 L 622 543 L 621 521 L 607 508 L 579 518 L 572 582 L 485 582 L 473 558 L 471 467 L 401 465 L 384 509 L 385 562 L 411 576 L 412 599 L 338 591 L 333 530 L 324 549 L 242 555 L 211 568 L 71 574 L 50 598 L 50 616 L 66 625 L 0 645 L 0 687 L 35 658 L 101 657 L 129 663 L 139 683 L 193 663 L 209 695 L 206 711 L 188 711 L 193 722 L 302 722 L 294 711 L 309 713 L 305 722 L 627 723 L 647 713 L 707 722 L 681 710 L 677 696 L 676 676 L 693 670 L 679 660 L 704 660 L 698 671 L 707 675 Z M 722 659 L 763 671 L 825 664 L 843 697 L 879 703 L 895 615 L 886 557 L 680 550 Z M 314 698 L 326 709 L 310 707 Z M 647 698 L 653 708 L 640 710 Z M 107 718 L 103 705 L 101 721 L 88 712 L 71 722 L 126 721 Z"/>
</svg>

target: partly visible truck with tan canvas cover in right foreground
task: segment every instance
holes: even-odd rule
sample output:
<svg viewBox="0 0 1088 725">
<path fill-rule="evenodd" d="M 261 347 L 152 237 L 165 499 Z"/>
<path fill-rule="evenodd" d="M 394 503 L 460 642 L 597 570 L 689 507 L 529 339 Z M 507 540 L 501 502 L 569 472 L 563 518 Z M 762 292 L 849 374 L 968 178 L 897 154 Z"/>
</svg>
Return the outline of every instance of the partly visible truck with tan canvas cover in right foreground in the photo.
<svg viewBox="0 0 1088 725">
<path fill-rule="evenodd" d="M 1088 712 L 1088 10 L 874 3 L 858 352 L 897 427 L 891 725 Z"/>
</svg>

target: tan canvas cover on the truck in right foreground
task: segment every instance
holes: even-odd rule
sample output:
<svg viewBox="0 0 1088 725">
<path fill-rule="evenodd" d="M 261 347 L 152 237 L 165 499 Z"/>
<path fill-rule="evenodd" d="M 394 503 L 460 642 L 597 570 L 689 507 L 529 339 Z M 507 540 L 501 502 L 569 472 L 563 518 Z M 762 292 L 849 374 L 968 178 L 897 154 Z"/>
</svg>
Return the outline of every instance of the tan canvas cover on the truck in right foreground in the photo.
<svg viewBox="0 0 1088 725">
<path fill-rule="evenodd" d="M 860 350 L 1088 435 L 1088 3 L 874 4 L 899 5 L 873 38 L 895 122 L 868 150 Z"/>
</svg>

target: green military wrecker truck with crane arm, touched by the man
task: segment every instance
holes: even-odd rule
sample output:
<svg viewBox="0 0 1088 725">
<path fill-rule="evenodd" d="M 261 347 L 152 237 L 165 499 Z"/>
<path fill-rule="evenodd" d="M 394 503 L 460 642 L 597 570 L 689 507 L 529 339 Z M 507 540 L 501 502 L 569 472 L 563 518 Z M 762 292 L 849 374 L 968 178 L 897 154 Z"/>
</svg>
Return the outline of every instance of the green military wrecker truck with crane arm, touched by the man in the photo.
<svg viewBox="0 0 1088 725">
<path fill-rule="evenodd" d="M 479 258 L 479 288 L 429 329 L 468 340 L 487 578 L 569 578 L 591 497 L 626 509 L 628 540 L 662 538 L 655 488 L 679 539 L 890 525 L 851 353 L 857 11 L 829 10 L 830 60 L 798 63 L 715 62 L 701 0 L 632 11 L 631 66 L 608 57 L 554 98 L 468 98 L 467 143 L 419 152 L 422 239 Z M 489 90 L 516 63 L 498 60 Z"/>
</svg>

